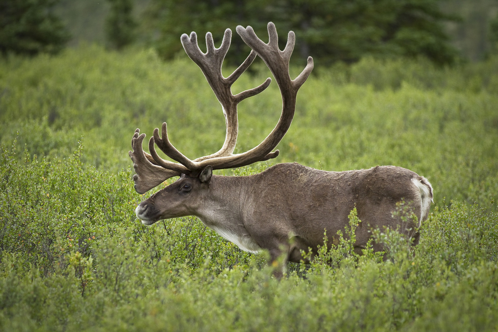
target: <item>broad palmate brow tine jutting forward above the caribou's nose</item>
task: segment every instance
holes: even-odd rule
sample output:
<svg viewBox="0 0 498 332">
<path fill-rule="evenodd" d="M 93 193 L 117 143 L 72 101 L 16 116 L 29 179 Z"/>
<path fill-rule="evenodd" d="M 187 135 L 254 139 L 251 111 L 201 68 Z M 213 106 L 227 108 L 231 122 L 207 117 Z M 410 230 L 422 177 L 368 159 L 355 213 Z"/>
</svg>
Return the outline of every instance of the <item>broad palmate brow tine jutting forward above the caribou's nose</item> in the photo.
<svg viewBox="0 0 498 332">
<path fill-rule="evenodd" d="M 146 191 L 157 187 L 163 181 L 173 176 L 180 175 L 180 172 L 165 169 L 149 162 L 142 149 L 142 142 L 145 138 L 145 134 L 139 135 L 139 132 L 140 130 L 136 129 L 133 134 L 133 138 L 131 139 L 132 151 L 129 151 L 128 155 L 133 162 L 133 169 L 136 173 L 133 175 L 133 181 L 135 182 L 134 188 L 139 194 L 143 194 Z"/>
</svg>

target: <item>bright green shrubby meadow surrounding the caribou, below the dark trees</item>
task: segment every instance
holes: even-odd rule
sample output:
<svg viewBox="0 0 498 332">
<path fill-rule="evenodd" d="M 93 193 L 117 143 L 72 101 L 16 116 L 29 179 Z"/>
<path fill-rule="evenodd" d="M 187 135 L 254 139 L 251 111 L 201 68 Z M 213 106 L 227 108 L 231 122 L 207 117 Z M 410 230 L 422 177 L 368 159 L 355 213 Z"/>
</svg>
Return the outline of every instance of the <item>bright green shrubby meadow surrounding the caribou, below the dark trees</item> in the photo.
<svg viewBox="0 0 498 332">
<path fill-rule="evenodd" d="M 234 92 L 269 75 L 255 62 Z M 220 104 L 186 55 L 164 63 L 151 50 L 83 45 L 0 60 L 0 331 L 496 331 L 497 105 L 498 57 L 317 68 L 280 155 L 218 174 L 287 161 L 397 165 L 428 178 L 434 205 L 413 251 L 380 229 L 387 261 L 357 257 L 346 237 L 278 281 L 264 253 L 242 252 L 195 218 L 135 218 L 154 191 L 133 190 L 135 128 L 150 137 L 167 121 L 192 159 L 225 138 Z M 280 110 L 275 83 L 244 101 L 236 152 L 257 145 Z"/>
</svg>

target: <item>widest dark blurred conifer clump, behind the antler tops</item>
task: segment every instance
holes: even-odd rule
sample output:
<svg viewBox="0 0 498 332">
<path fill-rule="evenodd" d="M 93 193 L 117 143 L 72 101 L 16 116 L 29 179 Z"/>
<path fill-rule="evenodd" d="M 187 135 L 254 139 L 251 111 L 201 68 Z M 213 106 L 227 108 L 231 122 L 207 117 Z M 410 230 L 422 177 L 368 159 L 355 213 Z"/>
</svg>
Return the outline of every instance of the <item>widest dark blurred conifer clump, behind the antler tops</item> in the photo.
<svg viewBox="0 0 498 332">
<path fill-rule="evenodd" d="M 439 8 L 439 0 L 152 0 L 149 18 L 159 37 L 155 44 L 167 59 L 181 51 L 181 33 L 207 31 L 221 39 L 225 28 L 251 25 L 266 33 L 266 23 L 277 26 L 282 47 L 287 32 L 296 33 L 293 60 L 308 55 L 317 65 L 336 61 L 354 63 L 361 57 L 425 56 L 434 63 L 452 63 L 457 55 L 442 23 L 453 17 Z M 218 40 L 220 41 L 220 40 Z M 235 34 L 236 50 L 242 40 Z M 243 43 L 242 43 L 243 44 Z M 240 63 L 242 53 L 227 55 Z M 241 53 L 241 55 L 239 55 Z M 234 60 L 234 58 L 237 59 Z"/>
</svg>

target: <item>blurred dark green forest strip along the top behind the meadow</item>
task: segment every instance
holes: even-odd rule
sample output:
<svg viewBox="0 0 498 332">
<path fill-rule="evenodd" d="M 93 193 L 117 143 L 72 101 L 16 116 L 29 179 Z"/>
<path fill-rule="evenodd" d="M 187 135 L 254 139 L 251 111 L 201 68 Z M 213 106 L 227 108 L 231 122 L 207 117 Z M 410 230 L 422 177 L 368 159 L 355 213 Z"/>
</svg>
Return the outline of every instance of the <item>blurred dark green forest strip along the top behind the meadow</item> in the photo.
<svg viewBox="0 0 498 332">
<path fill-rule="evenodd" d="M 211 31 L 219 42 L 227 27 L 264 33 L 268 21 L 281 33 L 296 32 L 295 63 L 311 55 L 317 66 L 364 56 L 475 62 L 495 52 L 498 40 L 497 0 L 2 0 L 0 6 L 4 54 L 98 43 L 154 47 L 173 59 L 183 51 L 182 33 Z M 240 63 L 247 51 L 235 36 L 228 62 Z"/>
</svg>

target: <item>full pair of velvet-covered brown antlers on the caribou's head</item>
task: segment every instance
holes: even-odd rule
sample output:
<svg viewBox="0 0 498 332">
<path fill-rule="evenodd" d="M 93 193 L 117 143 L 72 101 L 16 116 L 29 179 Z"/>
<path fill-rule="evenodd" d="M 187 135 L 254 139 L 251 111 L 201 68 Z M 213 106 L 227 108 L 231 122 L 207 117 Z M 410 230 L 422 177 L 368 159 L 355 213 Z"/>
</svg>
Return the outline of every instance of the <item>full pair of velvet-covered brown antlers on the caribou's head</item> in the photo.
<svg viewBox="0 0 498 332">
<path fill-rule="evenodd" d="M 148 155 L 141 149 L 141 141 L 145 136 L 143 134 L 143 137 L 142 135 L 138 136 L 138 131 L 135 131 L 132 140 L 133 152 L 130 151 L 129 154 L 135 163 L 133 167 L 137 174 L 139 174 L 138 172 L 142 172 L 139 176 L 135 175 L 133 177 L 133 180 L 135 181 L 135 190 L 138 192 L 143 191 L 145 188 L 148 188 L 147 190 L 153 188 L 150 186 L 165 176 L 171 177 L 178 175 L 178 173 L 196 173 L 207 165 L 211 165 L 213 169 L 241 167 L 278 156 L 278 150 L 274 152 L 271 151 L 283 138 L 292 122 L 297 92 L 313 69 L 313 59 L 308 57 L 308 64 L 303 72 L 295 80 L 291 80 L 289 76 L 289 59 L 294 49 L 294 32 L 289 32 L 287 45 L 283 51 L 280 51 L 278 48 L 277 32 L 275 25 L 272 22 L 268 23 L 269 41 L 267 44 L 256 36 L 254 30 L 250 26 L 244 28 L 239 25 L 237 26 L 237 32 L 241 35 L 244 42 L 249 45 L 252 51 L 246 61 L 244 61 L 244 63 L 228 78 L 223 77 L 221 67 L 223 59 L 230 47 L 232 35 L 230 29 L 225 30 L 225 36 L 220 48 L 214 47 L 211 33 L 208 32 L 206 34 L 207 53 L 202 53 L 199 49 L 195 32 L 190 34 L 190 38 L 186 34 L 183 34 L 181 37 L 185 52 L 201 68 L 206 80 L 222 105 L 227 124 L 227 134 L 222 148 L 214 154 L 190 160 L 171 144 L 168 139 L 167 126 L 164 122 L 161 130 L 162 137 L 159 136 L 159 129 L 154 129 L 153 137 L 149 140 L 150 155 Z M 241 92 L 235 96 L 232 94 L 232 84 L 249 67 L 256 54 L 263 59 L 278 84 L 282 96 L 282 113 L 275 128 L 261 143 L 247 152 L 232 154 L 237 142 L 238 133 L 237 104 L 266 89 L 271 81 L 268 78 L 263 84 L 256 88 Z M 154 149 L 154 142 L 168 157 L 178 161 L 180 164 L 160 158 Z M 138 147 L 138 144 L 140 144 L 140 147 Z M 146 165 L 138 165 L 138 162 L 145 163 Z M 169 170 L 169 172 L 159 172 L 158 168 L 160 167 Z M 170 174 L 173 175 L 169 176 Z M 146 180 L 145 178 L 147 177 L 151 177 L 153 181 Z M 164 178 L 164 180 L 167 179 L 167 177 Z"/>
</svg>

